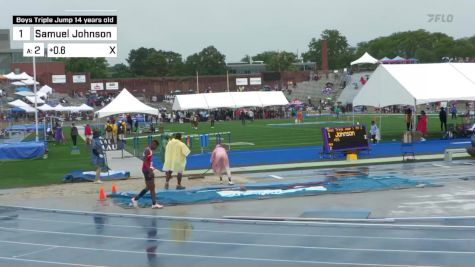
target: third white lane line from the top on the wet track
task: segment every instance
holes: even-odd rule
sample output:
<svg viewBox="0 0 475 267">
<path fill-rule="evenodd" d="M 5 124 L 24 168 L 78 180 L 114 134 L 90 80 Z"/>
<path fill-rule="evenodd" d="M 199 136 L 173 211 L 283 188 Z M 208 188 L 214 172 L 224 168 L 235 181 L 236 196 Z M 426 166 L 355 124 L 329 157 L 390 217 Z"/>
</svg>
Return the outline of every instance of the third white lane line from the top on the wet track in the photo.
<svg viewBox="0 0 475 267">
<path fill-rule="evenodd" d="M 4 229 L 5 227 L 0 227 Z M 8 229 L 8 228 L 7 228 Z M 10 228 L 13 229 L 13 228 Z M 189 243 L 189 244 L 206 244 L 206 245 L 227 245 L 227 246 L 240 246 L 240 247 L 265 247 L 265 248 L 283 248 L 283 249 L 310 249 L 310 250 L 338 250 L 338 251 L 366 251 L 366 252 L 404 252 L 404 253 L 441 253 L 441 254 L 473 254 L 475 251 L 449 251 L 449 250 L 405 250 L 405 249 L 376 249 L 376 248 L 340 248 L 340 247 L 319 247 L 319 246 L 291 246 L 291 245 L 272 245 L 272 244 L 252 244 L 252 243 L 233 243 L 233 242 L 214 242 L 214 241 L 192 241 L 192 240 L 173 240 L 173 239 L 161 239 L 161 238 L 145 238 L 145 237 L 123 237 L 112 235 L 96 235 L 96 234 L 78 234 L 67 232 L 54 232 L 54 231 L 41 231 L 31 229 L 17 229 L 23 232 L 33 232 L 52 235 L 66 235 L 66 236 L 81 236 L 81 237 L 101 237 L 111 239 L 125 239 L 125 240 L 152 240 L 159 242 L 169 243 Z M 2 242 L 11 242 L 6 240 L 0 240 Z M 55 245 L 50 245 L 55 246 Z M 57 245 L 57 247 L 62 247 Z"/>
</svg>

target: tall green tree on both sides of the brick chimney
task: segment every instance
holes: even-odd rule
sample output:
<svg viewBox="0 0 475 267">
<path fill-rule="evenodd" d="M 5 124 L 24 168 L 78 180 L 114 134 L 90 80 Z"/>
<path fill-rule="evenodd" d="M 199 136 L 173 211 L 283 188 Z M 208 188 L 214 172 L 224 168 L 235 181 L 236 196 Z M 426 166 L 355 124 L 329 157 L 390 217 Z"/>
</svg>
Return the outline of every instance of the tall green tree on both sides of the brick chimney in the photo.
<svg viewBox="0 0 475 267">
<path fill-rule="evenodd" d="M 351 49 L 345 36 L 338 30 L 324 30 L 319 39 L 312 38 L 308 44 L 308 51 L 303 53 L 305 61 L 313 61 L 319 64 L 322 61 L 321 42 L 328 44 L 328 67 L 340 69 L 348 66 L 347 60 L 352 57 Z"/>
</svg>

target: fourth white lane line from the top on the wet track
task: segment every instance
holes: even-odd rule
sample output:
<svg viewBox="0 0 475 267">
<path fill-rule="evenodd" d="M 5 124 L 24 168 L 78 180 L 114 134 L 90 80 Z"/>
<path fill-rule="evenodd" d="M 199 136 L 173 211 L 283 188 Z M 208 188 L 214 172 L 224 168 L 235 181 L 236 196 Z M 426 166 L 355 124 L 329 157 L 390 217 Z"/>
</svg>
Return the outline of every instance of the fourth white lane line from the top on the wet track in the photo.
<svg viewBox="0 0 475 267">
<path fill-rule="evenodd" d="M 41 247 L 51 247 L 53 245 L 41 244 L 41 243 L 28 243 L 28 242 L 16 242 L 16 241 L 0 241 L 0 243 L 16 244 L 16 245 L 29 245 L 29 246 L 41 246 Z M 129 254 L 150 254 L 147 251 L 136 251 L 136 250 L 120 250 L 120 249 L 104 249 L 104 248 L 90 248 L 90 247 L 74 247 L 74 246 L 56 246 L 57 248 L 64 249 L 77 249 L 77 250 L 86 250 L 86 251 L 103 251 L 103 252 L 117 252 L 117 253 L 129 253 Z M 210 256 L 210 255 L 199 255 L 199 254 L 181 254 L 181 253 L 165 253 L 165 252 L 155 252 L 155 255 L 162 256 L 176 256 L 176 257 L 191 257 L 191 258 L 207 258 L 207 259 L 222 259 L 222 260 L 248 260 L 248 261 L 268 261 L 268 262 L 280 262 L 280 263 L 302 263 L 302 264 L 328 264 L 328 265 L 354 265 L 354 266 L 386 266 L 386 267 L 408 267 L 408 266 L 418 266 L 418 267 L 438 267 L 432 265 L 391 265 L 391 264 L 374 264 L 374 263 L 352 263 L 352 262 L 323 262 L 323 261 L 305 261 L 305 260 L 284 260 L 284 259 L 267 259 L 267 258 L 250 258 L 250 257 L 228 257 L 228 256 Z M 93 266 L 94 265 L 79 265 L 79 266 Z"/>
</svg>

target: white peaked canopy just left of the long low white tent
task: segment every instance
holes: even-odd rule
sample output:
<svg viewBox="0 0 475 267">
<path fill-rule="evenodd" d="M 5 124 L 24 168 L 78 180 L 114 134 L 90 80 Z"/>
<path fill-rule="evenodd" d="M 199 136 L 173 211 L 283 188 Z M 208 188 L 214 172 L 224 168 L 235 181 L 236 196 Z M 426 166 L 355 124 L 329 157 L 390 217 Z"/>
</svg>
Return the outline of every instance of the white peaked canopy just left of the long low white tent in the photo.
<svg viewBox="0 0 475 267">
<path fill-rule="evenodd" d="M 124 88 L 122 89 L 122 92 L 112 100 L 112 102 L 101 110 L 95 112 L 99 118 L 121 113 L 145 113 L 158 115 L 158 109 L 140 102 L 140 100 L 135 98 L 131 93 L 129 93 L 129 91 L 127 91 L 127 89 Z"/>
</svg>

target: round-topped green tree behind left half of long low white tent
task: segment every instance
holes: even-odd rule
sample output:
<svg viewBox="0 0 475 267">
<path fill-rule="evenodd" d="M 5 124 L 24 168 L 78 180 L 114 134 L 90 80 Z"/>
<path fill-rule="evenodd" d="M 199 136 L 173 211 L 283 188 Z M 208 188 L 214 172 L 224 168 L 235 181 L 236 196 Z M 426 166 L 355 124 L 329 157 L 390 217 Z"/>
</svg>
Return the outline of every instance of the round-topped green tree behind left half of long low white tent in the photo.
<svg viewBox="0 0 475 267">
<path fill-rule="evenodd" d="M 225 74 L 227 69 L 225 60 L 226 56 L 221 54 L 218 49 L 208 46 L 186 59 L 186 71 L 188 75 L 194 75 L 196 71 L 200 75 Z"/>
</svg>

